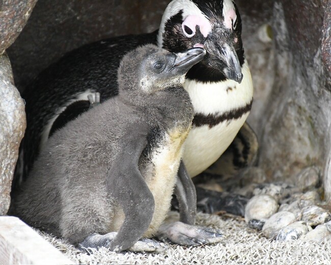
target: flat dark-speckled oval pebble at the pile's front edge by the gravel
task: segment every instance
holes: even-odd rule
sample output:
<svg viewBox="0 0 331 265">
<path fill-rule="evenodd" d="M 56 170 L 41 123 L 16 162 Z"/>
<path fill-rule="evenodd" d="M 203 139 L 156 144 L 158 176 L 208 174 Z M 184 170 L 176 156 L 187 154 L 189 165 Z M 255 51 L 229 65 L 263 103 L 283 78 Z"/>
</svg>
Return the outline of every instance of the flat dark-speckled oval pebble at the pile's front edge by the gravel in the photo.
<svg viewBox="0 0 331 265">
<path fill-rule="evenodd" d="M 289 241 L 299 239 L 302 235 L 307 234 L 311 231 L 312 228 L 307 225 L 307 223 L 298 221 L 281 229 L 277 236 L 276 240 L 279 241 Z"/>
</svg>

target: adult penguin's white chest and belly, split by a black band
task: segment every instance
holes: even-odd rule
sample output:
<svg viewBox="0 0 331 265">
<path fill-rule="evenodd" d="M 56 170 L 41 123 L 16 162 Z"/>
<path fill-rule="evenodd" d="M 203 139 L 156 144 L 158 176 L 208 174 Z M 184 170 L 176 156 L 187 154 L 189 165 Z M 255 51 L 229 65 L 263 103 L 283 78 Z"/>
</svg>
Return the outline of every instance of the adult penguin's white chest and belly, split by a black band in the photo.
<svg viewBox="0 0 331 265">
<path fill-rule="evenodd" d="M 215 117 L 234 112 L 250 104 L 253 99 L 253 84 L 249 66 L 242 67 L 243 79 L 218 83 L 197 83 L 185 81 L 196 114 Z M 191 177 L 213 164 L 229 147 L 249 112 L 237 119 L 225 120 L 215 126 L 193 127 L 185 141 L 183 161 Z"/>
</svg>

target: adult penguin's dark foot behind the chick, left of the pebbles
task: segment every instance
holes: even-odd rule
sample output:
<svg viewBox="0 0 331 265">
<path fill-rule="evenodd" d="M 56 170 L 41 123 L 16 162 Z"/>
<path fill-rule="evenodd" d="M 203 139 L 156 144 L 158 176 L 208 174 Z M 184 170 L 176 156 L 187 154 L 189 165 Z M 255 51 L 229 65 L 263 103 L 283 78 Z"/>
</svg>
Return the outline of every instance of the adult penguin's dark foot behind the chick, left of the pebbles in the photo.
<svg viewBox="0 0 331 265">
<path fill-rule="evenodd" d="M 216 192 L 196 187 L 197 210 L 203 213 L 213 214 L 218 211 L 226 211 L 229 214 L 244 216 L 248 198 L 227 192 Z"/>
</svg>

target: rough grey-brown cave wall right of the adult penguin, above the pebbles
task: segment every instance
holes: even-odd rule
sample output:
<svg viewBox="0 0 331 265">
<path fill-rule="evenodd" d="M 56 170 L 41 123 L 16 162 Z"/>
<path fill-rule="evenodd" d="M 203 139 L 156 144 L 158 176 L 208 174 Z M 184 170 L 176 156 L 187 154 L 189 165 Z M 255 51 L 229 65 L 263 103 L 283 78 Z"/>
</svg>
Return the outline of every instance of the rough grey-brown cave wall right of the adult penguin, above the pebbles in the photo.
<svg viewBox="0 0 331 265">
<path fill-rule="evenodd" d="M 245 8 L 243 32 L 248 26 L 245 47 L 255 82 L 249 121 L 260 140 L 259 165 L 269 180 L 293 176 L 311 165 L 317 166 L 324 181 L 329 179 L 331 23 L 327 11 L 331 3 L 237 2 Z M 267 35 L 272 41 L 261 37 L 268 29 L 265 24 L 271 26 L 272 34 Z"/>
</svg>

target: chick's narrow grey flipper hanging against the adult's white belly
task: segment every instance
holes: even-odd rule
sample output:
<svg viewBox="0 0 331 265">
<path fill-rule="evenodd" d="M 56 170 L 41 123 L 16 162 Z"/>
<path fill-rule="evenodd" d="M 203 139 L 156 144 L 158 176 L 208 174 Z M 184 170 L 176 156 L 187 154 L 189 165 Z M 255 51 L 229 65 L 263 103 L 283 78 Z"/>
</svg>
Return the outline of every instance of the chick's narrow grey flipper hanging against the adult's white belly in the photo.
<svg viewBox="0 0 331 265">
<path fill-rule="evenodd" d="M 180 162 L 178 169 L 175 195 L 178 200 L 180 221 L 194 225 L 197 213 L 196 188 L 186 171 L 183 161 Z"/>
</svg>

